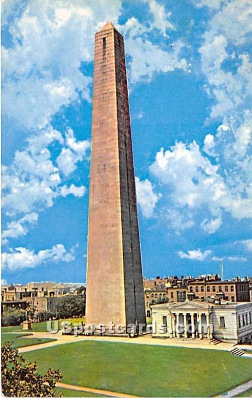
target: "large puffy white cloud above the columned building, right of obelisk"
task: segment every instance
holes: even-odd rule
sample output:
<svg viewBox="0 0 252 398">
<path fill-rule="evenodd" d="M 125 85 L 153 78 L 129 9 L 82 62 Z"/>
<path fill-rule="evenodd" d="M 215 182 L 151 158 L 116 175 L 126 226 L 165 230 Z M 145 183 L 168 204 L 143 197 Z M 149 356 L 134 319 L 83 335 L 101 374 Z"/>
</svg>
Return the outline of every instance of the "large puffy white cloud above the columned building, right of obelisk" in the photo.
<svg viewBox="0 0 252 398">
<path fill-rule="evenodd" d="M 214 233 L 221 226 L 223 211 L 239 220 L 252 217 L 252 190 L 246 187 L 246 196 L 237 190 L 234 180 L 204 157 L 196 142 L 178 142 L 167 151 L 162 148 L 150 171 L 159 179 L 161 193 L 169 193 L 169 202 L 175 209 L 195 213 L 207 207 L 209 217 L 200 222 L 207 233 Z"/>
</svg>

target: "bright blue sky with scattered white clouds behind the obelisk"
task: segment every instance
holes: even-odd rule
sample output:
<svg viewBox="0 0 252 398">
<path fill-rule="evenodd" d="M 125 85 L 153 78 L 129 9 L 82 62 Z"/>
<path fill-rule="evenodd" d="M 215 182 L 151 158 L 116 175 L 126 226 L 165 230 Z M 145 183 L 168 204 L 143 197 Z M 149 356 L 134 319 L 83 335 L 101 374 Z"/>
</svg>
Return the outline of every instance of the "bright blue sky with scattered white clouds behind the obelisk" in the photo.
<svg viewBox="0 0 252 398">
<path fill-rule="evenodd" d="M 252 270 L 250 0 L 5 0 L 2 279 L 85 281 L 93 38 L 124 35 L 143 272 Z"/>
</svg>

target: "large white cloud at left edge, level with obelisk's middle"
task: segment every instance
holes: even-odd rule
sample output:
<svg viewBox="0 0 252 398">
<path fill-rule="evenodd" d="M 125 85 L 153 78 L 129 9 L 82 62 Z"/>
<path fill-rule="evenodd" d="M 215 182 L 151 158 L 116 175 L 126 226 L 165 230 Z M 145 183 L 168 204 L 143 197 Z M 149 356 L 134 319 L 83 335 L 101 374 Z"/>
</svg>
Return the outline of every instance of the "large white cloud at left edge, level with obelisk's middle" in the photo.
<svg viewBox="0 0 252 398">
<path fill-rule="evenodd" d="M 36 207 L 41 209 L 41 205 L 50 207 L 62 193 L 66 197 L 66 187 L 61 190 L 65 176 L 69 176 L 76 164 L 84 160 L 90 146 L 88 140 L 77 141 L 71 129 L 64 140 L 61 133 L 50 127 L 41 134 L 30 136 L 27 141 L 24 150 L 15 152 L 13 163 L 2 167 L 2 207 L 13 214 L 29 213 Z M 45 147 L 53 142 L 63 145 L 65 142 L 63 149 L 70 152 L 71 162 L 60 155 L 58 165 L 54 164 L 51 152 Z M 79 197 L 84 194 L 84 188 L 74 192 L 73 187 L 69 194 L 78 192 L 76 196 Z"/>
</svg>

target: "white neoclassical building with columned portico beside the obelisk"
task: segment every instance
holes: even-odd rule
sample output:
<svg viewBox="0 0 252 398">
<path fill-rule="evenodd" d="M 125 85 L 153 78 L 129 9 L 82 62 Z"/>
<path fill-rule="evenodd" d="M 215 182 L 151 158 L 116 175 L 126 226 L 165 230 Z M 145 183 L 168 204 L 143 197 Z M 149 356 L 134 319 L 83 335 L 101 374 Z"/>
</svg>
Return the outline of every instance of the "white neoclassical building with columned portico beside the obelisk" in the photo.
<svg viewBox="0 0 252 398">
<path fill-rule="evenodd" d="M 252 302 L 184 301 L 152 306 L 153 337 L 252 342 Z"/>
</svg>

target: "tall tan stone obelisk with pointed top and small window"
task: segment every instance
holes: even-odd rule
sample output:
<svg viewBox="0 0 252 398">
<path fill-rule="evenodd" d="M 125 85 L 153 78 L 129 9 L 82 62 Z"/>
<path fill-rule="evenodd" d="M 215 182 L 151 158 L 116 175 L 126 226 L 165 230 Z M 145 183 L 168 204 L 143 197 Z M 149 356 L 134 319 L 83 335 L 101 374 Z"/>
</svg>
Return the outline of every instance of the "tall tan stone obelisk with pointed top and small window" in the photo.
<svg viewBox="0 0 252 398">
<path fill-rule="evenodd" d="M 145 323 L 127 77 L 122 35 L 96 34 L 86 324 Z"/>
</svg>

